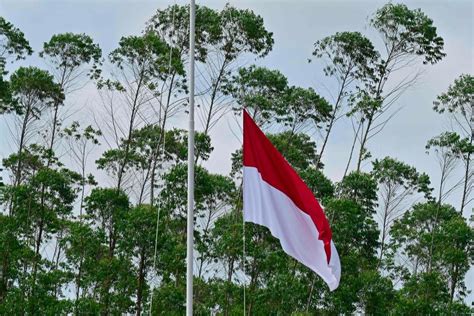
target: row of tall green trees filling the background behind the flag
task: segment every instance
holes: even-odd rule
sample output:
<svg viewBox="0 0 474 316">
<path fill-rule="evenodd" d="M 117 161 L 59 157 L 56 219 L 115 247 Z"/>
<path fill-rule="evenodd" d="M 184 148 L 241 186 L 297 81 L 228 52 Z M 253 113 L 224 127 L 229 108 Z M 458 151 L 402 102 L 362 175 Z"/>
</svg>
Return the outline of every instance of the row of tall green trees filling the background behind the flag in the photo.
<svg viewBox="0 0 474 316">
<path fill-rule="evenodd" d="M 0 314 L 184 314 L 187 133 L 172 122 L 186 117 L 188 15 L 187 6 L 159 9 L 108 55 L 88 35 L 53 35 L 39 52 L 47 70 L 15 68 L 33 50 L 0 18 L 2 137 L 14 144 L 2 161 Z M 369 145 L 419 79 L 416 70 L 445 53 L 418 9 L 389 3 L 369 26 L 382 51 L 359 32 L 314 43 L 311 61 L 337 82 L 328 102 L 278 70 L 242 66 L 272 50 L 260 16 L 230 5 L 197 8 L 196 314 L 472 312 L 464 277 L 473 262 L 465 218 L 473 77 L 460 75 L 434 101 L 452 123 L 426 146 L 439 183 L 396 158 L 372 159 Z M 398 81 L 403 69 L 410 75 Z M 86 87 L 99 97 L 94 115 L 77 121 L 71 96 Z M 241 150 L 229 175 L 202 167 L 212 128 L 243 106 L 325 206 L 343 268 L 335 292 L 267 229 L 243 226 Z M 352 121 L 354 136 L 344 177 L 333 182 L 323 168 L 340 120 Z M 458 202 L 446 204 L 448 197 Z"/>
</svg>

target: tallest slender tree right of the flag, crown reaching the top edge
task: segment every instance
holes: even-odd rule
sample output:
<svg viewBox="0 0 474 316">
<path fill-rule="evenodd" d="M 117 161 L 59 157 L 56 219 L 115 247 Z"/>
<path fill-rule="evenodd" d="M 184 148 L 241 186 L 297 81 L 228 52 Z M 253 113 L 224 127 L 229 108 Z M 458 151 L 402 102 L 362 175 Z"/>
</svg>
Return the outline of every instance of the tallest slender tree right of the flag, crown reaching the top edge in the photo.
<svg viewBox="0 0 474 316">
<path fill-rule="evenodd" d="M 420 59 L 423 64 L 435 64 L 446 55 L 443 38 L 437 34 L 433 21 L 420 9 L 410 10 L 404 4 L 388 3 L 376 11 L 370 25 L 382 37 L 385 54 L 373 66 L 375 74 L 370 87 L 361 93 L 362 99 L 370 102 L 359 103 L 355 108 L 360 113 L 360 124 L 363 124 L 357 170 L 367 152 L 367 141 L 383 129 L 394 113 L 385 121 L 376 122 L 418 76 L 415 74 L 387 90 L 386 83 L 391 75 L 412 67 Z"/>
</svg>

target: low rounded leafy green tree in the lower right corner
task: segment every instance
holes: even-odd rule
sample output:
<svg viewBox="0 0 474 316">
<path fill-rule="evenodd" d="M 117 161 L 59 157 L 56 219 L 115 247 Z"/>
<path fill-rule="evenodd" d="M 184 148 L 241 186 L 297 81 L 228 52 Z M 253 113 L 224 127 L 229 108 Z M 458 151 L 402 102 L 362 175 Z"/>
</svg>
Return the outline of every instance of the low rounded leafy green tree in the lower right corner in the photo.
<svg viewBox="0 0 474 316">
<path fill-rule="evenodd" d="M 411 263 L 399 267 L 409 284 L 419 282 L 418 274 L 421 278 L 434 277 L 442 284 L 444 302 L 453 302 L 457 290 L 461 299 L 465 296 L 462 280 L 472 264 L 473 234 L 473 229 L 452 206 L 420 203 L 394 223 L 390 248 L 392 256 L 401 251 Z"/>
</svg>

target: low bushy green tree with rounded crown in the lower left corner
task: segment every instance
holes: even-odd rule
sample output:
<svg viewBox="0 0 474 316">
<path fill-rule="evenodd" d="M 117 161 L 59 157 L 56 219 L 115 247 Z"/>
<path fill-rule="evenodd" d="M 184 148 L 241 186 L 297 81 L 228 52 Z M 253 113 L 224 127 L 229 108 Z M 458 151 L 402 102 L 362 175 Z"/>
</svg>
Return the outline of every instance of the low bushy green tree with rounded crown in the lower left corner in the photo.
<svg viewBox="0 0 474 316">
<path fill-rule="evenodd" d="M 19 287 L 26 291 L 28 303 L 24 308 L 28 313 L 41 313 L 38 307 L 42 300 L 56 301 L 58 284 L 55 283 L 64 282 L 61 278 L 51 280 L 61 272 L 51 271 L 50 261 L 42 258 L 41 246 L 62 229 L 71 215 L 78 180 L 79 175 L 67 169 L 56 171 L 43 167 L 28 181 L 7 190 L 8 199 L 14 202 L 12 219 L 17 225 L 16 238 L 28 241 L 27 244 L 33 247 L 32 257 L 25 262 L 29 269 L 23 270 L 17 280 Z M 13 253 L 7 256 L 14 258 L 14 249 L 11 250 Z"/>
</svg>

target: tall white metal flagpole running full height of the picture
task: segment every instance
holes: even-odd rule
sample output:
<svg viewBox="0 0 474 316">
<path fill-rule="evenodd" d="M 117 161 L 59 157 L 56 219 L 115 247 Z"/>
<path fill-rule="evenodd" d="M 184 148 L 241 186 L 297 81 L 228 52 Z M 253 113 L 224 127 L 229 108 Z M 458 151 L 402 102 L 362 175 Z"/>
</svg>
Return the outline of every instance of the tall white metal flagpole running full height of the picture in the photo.
<svg viewBox="0 0 474 316">
<path fill-rule="evenodd" d="M 188 135 L 188 227 L 186 267 L 186 315 L 193 315 L 194 244 L 194 0 L 189 8 L 189 135 Z"/>
</svg>

